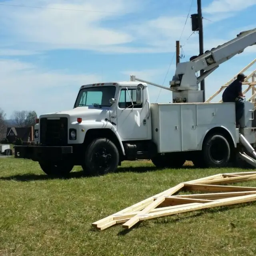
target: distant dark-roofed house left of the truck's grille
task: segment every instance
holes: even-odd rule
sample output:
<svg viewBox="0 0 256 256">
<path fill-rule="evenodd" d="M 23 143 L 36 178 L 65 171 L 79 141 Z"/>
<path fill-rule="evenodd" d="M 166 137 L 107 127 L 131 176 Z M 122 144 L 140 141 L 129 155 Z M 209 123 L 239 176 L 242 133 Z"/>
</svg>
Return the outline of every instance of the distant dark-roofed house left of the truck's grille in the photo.
<svg viewBox="0 0 256 256">
<path fill-rule="evenodd" d="M 8 127 L 6 138 L 9 143 L 14 143 L 17 138 L 23 142 L 30 142 L 34 140 L 34 127 Z"/>
</svg>

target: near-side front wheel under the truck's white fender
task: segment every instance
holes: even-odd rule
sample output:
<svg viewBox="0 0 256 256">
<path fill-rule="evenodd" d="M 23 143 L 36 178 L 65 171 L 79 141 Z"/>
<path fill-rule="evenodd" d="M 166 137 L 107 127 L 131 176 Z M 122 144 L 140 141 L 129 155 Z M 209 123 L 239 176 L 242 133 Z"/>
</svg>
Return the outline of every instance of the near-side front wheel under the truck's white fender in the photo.
<svg viewBox="0 0 256 256">
<path fill-rule="evenodd" d="M 116 145 L 107 138 L 92 141 L 85 152 L 86 174 L 98 175 L 115 172 L 119 163 L 119 152 Z"/>
</svg>

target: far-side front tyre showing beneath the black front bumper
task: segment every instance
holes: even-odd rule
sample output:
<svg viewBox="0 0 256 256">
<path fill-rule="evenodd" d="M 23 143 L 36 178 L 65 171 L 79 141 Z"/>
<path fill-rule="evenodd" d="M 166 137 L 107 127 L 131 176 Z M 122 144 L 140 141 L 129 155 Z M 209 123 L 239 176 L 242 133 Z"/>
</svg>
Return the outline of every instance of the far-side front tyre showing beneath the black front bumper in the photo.
<svg viewBox="0 0 256 256">
<path fill-rule="evenodd" d="M 40 167 L 42 170 L 49 176 L 66 176 L 69 174 L 74 164 L 69 161 L 60 161 L 57 163 L 52 162 L 39 162 Z"/>
</svg>

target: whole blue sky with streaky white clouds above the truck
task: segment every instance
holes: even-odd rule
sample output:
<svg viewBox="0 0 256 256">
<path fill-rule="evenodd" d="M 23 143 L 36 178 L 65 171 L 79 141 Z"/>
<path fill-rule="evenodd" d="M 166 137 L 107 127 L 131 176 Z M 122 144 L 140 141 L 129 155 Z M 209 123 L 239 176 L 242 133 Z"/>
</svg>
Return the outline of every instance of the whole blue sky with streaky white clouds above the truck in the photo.
<svg viewBox="0 0 256 256">
<path fill-rule="evenodd" d="M 190 36 L 196 12 L 196 0 L 0 0 L 0 108 L 8 118 L 14 110 L 67 110 L 82 84 L 130 74 L 168 86 L 181 34 L 181 61 L 199 52 L 198 34 Z M 202 0 L 202 12 L 204 50 L 256 27 L 256 0 Z M 248 47 L 222 64 L 206 79 L 206 98 L 255 55 Z M 151 103 L 171 98 L 150 86 Z"/>
</svg>

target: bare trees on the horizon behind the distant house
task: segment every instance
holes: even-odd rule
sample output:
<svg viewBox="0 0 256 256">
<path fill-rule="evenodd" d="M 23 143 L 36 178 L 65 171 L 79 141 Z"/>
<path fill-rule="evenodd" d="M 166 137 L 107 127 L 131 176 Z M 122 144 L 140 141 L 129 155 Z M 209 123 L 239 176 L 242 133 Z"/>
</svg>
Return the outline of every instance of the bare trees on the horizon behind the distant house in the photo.
<svg viewBox="0 0 256 256">
<path fill-rule="evenodd" d="M 7 127 L 30 127 L 36 124 L 36 111 L 16 110 L 9 120 L 6 113 L 0 108 L 0 139 L 5 138 Z"/>
</svg>

